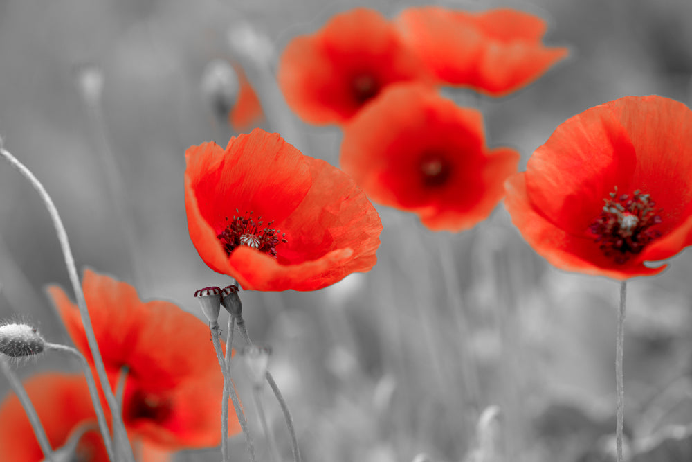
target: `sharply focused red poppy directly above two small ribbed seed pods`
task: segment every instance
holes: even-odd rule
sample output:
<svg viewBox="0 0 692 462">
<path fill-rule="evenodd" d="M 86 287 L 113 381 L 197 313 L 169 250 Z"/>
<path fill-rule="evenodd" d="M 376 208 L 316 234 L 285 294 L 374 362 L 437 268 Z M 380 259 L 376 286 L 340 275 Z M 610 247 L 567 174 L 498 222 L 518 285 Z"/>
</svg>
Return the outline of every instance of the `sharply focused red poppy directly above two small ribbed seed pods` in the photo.
<svg viewBox="0 0 692 462">
<path fill-rule="evenodd" d="M 199 256 L 244 289 L 317 290 L 376 262 L 382 224 L 343 172 L 255 129 L 185 152 Z"/>
</svg>

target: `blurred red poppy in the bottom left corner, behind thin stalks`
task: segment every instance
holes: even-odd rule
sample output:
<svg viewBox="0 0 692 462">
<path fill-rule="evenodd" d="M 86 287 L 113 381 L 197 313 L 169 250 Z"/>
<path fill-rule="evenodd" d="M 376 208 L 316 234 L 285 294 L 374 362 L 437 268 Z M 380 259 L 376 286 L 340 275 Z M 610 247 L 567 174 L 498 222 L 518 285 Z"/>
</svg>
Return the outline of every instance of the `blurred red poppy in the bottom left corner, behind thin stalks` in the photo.
<svg viewBox="0 0 692 462">
<path fill-rule="evenodd" d="M 84 424 L 89 426 L 89 431 L 79 438 L 76 448 L 79 460 L 109 460 L 83 375 L 43 373 L 31 377 L 24 387 L 53 450 L 63 447 Z M 0 454 L 3 462 L 44 460 L 24 408 L 13 393 L 0 405 Z"/>
</svg>

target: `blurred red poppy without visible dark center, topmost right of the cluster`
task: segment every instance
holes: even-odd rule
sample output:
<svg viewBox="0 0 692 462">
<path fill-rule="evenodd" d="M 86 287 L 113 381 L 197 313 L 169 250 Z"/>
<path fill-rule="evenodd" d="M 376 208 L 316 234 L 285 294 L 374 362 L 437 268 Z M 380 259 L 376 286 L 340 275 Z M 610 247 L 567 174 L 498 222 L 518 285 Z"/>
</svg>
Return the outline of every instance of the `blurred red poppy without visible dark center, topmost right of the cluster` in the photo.
<svg viewBox="0 0 692 462">
<path fill-rule="evenodd" d="M 543 19 L 510 8 L 473 13 L 407 8 L 396 21 L 408 46 L 437 78 L 491 96 L 528 85 L 568 53 L 541 44 Z"/>
</svg>

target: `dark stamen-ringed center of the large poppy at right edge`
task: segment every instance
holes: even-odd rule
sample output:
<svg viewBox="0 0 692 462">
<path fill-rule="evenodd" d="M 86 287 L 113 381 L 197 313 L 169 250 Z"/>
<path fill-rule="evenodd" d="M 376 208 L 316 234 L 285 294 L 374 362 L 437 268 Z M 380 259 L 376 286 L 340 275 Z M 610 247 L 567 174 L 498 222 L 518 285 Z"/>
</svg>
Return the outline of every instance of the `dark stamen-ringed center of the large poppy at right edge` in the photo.
<svg viewBox="0 0 692 462">
<path fill-rule="evenodd" d="M 661 236 L 660 231 L 651 228 L 662 221 L 659 215 L 662 209 L 655 208 L 650 196 L 639 190 L 619 195 L 616 187 L 609 196 L 603 199 L 601 215 L 589 229 L 597 236 L 603 254 L 621 265 Z"/>
</svg>

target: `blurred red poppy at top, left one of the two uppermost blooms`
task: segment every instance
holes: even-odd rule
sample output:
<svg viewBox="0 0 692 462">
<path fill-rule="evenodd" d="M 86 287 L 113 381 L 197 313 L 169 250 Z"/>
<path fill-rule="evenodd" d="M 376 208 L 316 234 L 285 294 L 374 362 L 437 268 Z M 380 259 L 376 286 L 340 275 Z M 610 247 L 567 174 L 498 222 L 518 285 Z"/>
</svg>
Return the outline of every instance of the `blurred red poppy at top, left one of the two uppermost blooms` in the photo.
<svg viewBox="0 0 692 462">
<path fill-rule="evenodd" d="M 278 71 L 286 102 L 309 123 L 344 123 L 392 82 L 429 78 L 379 12 L 355 8 L 295 37 Z"/>
</svg>

